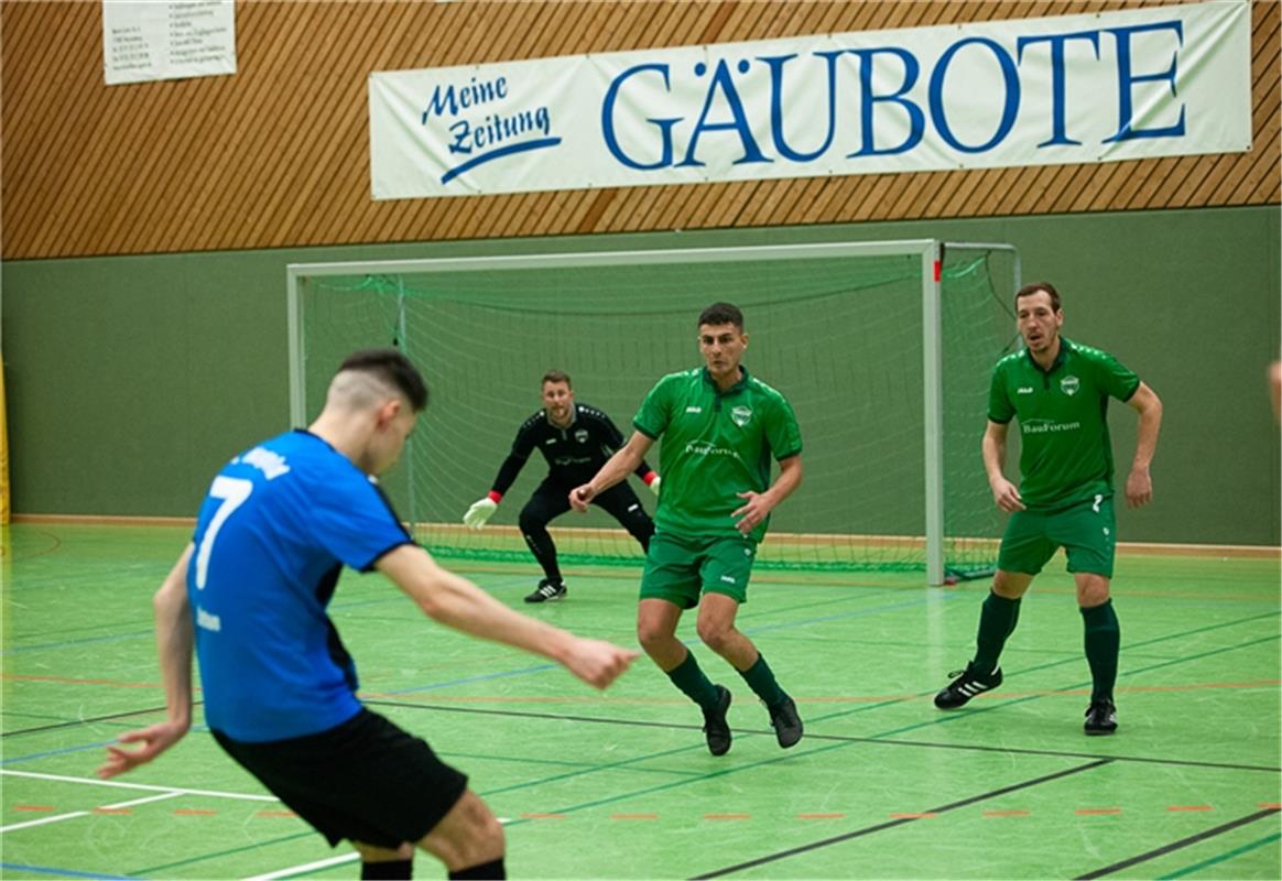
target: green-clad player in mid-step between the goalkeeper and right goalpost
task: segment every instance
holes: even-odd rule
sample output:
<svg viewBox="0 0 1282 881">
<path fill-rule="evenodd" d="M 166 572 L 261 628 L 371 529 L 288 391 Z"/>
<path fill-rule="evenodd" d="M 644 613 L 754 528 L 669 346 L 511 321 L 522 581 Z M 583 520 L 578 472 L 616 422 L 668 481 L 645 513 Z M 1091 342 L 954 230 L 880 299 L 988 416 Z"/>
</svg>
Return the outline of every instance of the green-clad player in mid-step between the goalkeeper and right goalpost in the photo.
<svg viewBox="0 0 1282 881">
<path fill-rule="evenodd" d="M 796 744 L 803 730 L 796 704 L 735 627 L 770 510 L 801 482 L 796 415 L 783 395 L 740 364 L 746 348 L 738 308 L 717 303 L 705 309 L 699 315 L 704 367 L 659 380 L 632 421 L 628 442 L 570 492 L 570 504 L 586 510 L 663 439 L 663 489 L 641 576 L 637 636 L 673 685 L 703 709 L 713 755 L 729 750 L 731 694 L 708 678 L 676 636 L 681 613 L 690 608 L 699 608 L 699 637 L 765 703 L 779 746 Z M 772 459 L 779 463 L 773 483 Z"/>
</svg>

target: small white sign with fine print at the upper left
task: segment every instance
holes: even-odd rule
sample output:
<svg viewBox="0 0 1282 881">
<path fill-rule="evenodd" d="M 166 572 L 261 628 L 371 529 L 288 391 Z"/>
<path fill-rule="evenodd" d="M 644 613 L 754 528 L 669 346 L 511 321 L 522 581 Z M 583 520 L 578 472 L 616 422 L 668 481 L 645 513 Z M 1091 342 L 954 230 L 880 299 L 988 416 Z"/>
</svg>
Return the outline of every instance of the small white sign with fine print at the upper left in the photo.
<svg viewBox="0 0 1282 881">
<path fill-rule="evenodd" d="M 108 86 L 236 73 L 233 0 L 103 0 Z"/>
</svg>

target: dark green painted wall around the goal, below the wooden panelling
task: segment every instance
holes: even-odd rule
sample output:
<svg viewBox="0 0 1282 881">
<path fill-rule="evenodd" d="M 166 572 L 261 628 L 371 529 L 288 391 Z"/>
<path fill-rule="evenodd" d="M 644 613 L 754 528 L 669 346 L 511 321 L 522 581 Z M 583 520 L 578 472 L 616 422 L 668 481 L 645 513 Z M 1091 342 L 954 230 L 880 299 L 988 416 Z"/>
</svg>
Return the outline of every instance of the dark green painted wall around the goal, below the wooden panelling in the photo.
<svg viewBox="0 0 1282 881">
<path fill-rule="evenodd" d="M 1279 351 L 1279 217 L 1265 206 L 5 263 L 13 510 L 192 514 L 228 455 L 287 424 L 288 263 L 938 237 L 1017 245 L 1024 280 L 1063 292 L 1065 335 L 1113 351 L 1161 395 L 1156 499 L 1119 512 L 1122 540 L 1277 545 L 1264 371 Z M 1135 414 L 1114 407 L 1113 427 L 1127 463 Z"/>
</svg>

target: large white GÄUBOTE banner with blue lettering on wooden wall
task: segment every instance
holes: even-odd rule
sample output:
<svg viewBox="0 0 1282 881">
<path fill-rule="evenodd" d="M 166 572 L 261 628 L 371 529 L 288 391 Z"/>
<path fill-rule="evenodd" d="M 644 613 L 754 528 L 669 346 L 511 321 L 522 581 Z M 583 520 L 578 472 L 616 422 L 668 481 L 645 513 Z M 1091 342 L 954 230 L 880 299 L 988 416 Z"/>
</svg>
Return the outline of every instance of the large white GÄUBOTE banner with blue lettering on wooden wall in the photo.
<svg viewBox="0 0 1282 881">
<path fill-rule="evenodd" d="M 1246 0 L 395 71 L 374 199 L 1251 147 Z"/>
</svg>

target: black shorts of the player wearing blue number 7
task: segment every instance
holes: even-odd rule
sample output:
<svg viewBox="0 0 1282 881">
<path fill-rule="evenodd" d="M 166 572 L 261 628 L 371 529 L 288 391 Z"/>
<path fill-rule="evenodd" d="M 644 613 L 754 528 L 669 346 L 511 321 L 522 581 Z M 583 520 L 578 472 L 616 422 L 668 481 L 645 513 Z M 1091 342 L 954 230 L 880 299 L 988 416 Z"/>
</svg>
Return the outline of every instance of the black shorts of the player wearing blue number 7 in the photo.
<svg viewBox="0 0 1282 881">
<path fill-rule="evenodd" d="M 426 741 L 364 708 L 305 737 L 246 744 L 213 735 L 331 846 L 344 839 L 378 848 L 415 844 L 468 786 Z"/>
</svg>

